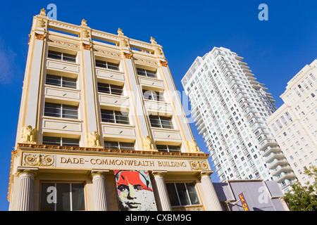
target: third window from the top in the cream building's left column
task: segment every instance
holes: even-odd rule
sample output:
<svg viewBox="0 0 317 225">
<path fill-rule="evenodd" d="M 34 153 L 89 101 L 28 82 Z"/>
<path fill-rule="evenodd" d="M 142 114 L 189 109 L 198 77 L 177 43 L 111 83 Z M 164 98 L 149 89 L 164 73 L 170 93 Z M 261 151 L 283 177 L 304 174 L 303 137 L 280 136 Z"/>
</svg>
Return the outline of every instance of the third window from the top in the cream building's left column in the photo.
<svg viewBox="0 0 317 225">
<path fill-rule="evenodd" d="M 63 117 L 78 119 L 78 108 L 74 105 L 63 105 L 56 103 L 45 103 L 44 115 L 49 117 Z"/>
</svg>

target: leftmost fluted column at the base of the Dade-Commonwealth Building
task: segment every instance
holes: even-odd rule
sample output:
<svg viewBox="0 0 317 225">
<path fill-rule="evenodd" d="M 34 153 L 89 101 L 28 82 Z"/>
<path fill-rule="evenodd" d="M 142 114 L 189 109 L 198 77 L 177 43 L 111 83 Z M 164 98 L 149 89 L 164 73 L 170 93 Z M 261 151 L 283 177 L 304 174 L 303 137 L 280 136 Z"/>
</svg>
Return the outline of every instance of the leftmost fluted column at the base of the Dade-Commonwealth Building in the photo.
<svg viewBox="0 0 317 225">
<path fill-rule="evenodd" d="M 25 168 L 18 172 L 18 201 L 17 211 L 33 210 L 33 181 L 37 168 Z"/>
</svg>

